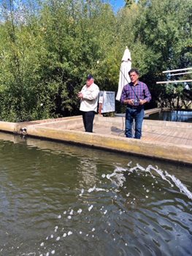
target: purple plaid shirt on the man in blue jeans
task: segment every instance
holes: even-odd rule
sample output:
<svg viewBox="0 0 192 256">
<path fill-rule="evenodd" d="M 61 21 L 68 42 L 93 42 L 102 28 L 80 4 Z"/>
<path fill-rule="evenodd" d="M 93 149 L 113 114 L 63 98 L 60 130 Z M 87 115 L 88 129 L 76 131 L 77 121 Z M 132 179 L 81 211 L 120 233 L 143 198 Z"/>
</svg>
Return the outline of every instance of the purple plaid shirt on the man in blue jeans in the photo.
<svg viewBox="0 0 192 256">
<path fill-rule="evenodd" d="M 137 94 L 137 96 L 135 94 Z M 137 99 L 137 97 L 139 99 L 146 99 L 147 102 L 150 102 L 151 99 L 150 91 L 147 85 L 140 81 L 137 83 L 136 86 L 134 86 L 133 83 L 128 83 L 126 86 L 123 87 L 120 102 L 123 103 L 124 99 Z"/>
</svg>

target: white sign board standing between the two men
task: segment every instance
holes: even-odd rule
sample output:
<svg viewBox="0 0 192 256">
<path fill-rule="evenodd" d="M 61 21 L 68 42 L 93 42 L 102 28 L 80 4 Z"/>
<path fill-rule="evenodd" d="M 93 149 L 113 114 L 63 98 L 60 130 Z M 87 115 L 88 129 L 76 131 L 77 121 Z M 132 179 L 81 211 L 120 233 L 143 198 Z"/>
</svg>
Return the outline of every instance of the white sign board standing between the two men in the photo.
<svg viewBox="0 0 192 256">
<path fill-rule="evenodd" d="M 100 91 L 99 113 L 115 112 L 115 91 Z"/>
</svg>

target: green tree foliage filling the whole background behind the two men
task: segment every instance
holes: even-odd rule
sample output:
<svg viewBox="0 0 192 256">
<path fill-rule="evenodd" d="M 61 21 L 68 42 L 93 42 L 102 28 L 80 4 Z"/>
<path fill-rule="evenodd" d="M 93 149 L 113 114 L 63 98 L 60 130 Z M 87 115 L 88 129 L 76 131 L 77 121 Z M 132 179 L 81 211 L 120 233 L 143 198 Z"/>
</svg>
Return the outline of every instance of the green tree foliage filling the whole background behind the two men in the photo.
<svg viewBox="0 0 192 256">
<path fill-rule="evenodd" d="M 117 91 L 126 46 L 153 105 L 161 99 L 188 108 L 183 85 L 155 81 L 164 79 L 163 70 L 191 67 L 191 15 L 191 0 L 125 1 L 118 12 L 100 0 L 2 0 L 1 120 L 78 114 L 77 91 L 88 73 L 101 90 Z"/>
</svg>

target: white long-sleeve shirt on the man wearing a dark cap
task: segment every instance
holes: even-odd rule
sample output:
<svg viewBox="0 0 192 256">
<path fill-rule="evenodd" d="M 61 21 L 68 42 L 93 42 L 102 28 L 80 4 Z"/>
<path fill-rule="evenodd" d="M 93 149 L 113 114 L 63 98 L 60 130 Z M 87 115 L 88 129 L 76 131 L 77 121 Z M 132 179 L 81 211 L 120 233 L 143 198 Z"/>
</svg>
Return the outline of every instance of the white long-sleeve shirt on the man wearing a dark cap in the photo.
<svg viewBox="0 0 192 256">
<path fill-rule="evenodd" d="M 99 87 L 96 83 L 92 83 L 91 86 L 83 86 L 81 93 L 83 98 L 80 101 L 80 110 L 84 112 L 96 112 L 99 99 Z"/>
</svg>

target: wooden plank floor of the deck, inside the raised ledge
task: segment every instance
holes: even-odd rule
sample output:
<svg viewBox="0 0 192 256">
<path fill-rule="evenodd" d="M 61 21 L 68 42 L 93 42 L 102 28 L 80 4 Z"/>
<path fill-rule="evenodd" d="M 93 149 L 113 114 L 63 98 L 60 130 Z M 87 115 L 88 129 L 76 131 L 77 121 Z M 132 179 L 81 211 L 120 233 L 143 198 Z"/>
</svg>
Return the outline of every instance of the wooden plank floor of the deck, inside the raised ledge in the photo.
<svg viewBox="0 0 192 256">
<path fill-rule="evenodd" d="M 159 108 L 145 110 L 145 114 L 155 113 L 159 110 Z M 125 114 L 115 118 L 118 120 L 118 123 L 115 125 L 109 125 L 105 121 L 102 123 L 101 121 L 96 121 L 93 131 L 99 134 L 110 134 L 125 137 Z M 82 127 L 82 130 L 83 129 L 84 128 Z M 143 121 L 141 140 L 146 142 L 161 142 L 164 144 L 172 143 L 177 145 L 192 146 L 192 124 L 145 119 Z"/>
</svg>

